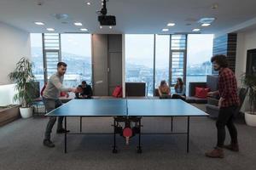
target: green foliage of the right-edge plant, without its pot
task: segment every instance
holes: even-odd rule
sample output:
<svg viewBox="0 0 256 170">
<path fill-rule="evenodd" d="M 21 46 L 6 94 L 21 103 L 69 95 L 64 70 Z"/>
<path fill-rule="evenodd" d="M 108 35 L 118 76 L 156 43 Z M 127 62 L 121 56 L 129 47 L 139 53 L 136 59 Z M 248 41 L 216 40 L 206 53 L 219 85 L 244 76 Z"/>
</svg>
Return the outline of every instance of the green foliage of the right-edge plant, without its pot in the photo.
<svg viewBox="0 0 256 170">
<path fill-rule="evenodd" d="M 248 88 L 250 111 L 256 111 L 256 74 L 244 74 L 242 83 Z"/>
</svg>

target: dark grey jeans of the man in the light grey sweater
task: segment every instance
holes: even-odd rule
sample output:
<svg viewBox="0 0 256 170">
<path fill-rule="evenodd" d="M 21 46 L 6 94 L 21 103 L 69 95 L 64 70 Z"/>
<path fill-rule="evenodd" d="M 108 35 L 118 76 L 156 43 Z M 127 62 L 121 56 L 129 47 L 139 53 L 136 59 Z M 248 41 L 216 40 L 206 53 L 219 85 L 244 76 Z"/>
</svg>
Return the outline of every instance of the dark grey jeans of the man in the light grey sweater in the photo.
<svg viewBox="0 0 256 170">
<path fill-rule="evenodd" d="M 55 108 L 60 107 L 62 105 L 60 99 L 43 98 L 43 102 L 47 112 L 55 110 Z M 63 116 L 58 117 L 57 130 L 62 128 L 63 118 L 64 118 Z M 50 133 L 51 133 L 52 127 L 55 125 L 55 122 L 56 122 L 56 116 L 49 116 L 49 122 L 47 123 L 46 129 L 45 129 L 44 139 L 50 139 Z"/>
</svg>

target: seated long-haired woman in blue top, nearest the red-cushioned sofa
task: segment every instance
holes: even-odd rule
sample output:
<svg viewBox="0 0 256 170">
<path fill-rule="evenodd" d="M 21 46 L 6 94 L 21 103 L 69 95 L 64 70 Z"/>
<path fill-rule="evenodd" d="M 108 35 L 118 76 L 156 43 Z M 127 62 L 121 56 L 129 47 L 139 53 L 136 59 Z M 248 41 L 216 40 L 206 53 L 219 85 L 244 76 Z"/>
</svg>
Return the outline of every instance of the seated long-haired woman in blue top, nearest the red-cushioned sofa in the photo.
<svg viewBox="0 0 256 170">
<path fill-rule="evenodd" d="M 177 82 L 174 85 L 175 94 L 172 94 L 172 99 L 186 99 L 186 87 L 181 77 L 177 78 Z"/>
</svg>

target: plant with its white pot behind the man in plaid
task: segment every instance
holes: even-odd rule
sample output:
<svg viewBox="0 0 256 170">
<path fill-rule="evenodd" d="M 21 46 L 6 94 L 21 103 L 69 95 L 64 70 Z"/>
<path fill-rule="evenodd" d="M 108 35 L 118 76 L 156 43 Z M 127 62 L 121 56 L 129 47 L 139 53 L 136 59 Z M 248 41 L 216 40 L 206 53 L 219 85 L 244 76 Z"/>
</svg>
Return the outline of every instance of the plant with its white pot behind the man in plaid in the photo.
<svg viewBox="0 0 256 170">
<path fill-rule="evenodd" d="M 247 125 L 256 127 L 256 75 L 245 74 L 242 83 L 248 88 L 248 111 L 245 111 Z"/>
</svg>

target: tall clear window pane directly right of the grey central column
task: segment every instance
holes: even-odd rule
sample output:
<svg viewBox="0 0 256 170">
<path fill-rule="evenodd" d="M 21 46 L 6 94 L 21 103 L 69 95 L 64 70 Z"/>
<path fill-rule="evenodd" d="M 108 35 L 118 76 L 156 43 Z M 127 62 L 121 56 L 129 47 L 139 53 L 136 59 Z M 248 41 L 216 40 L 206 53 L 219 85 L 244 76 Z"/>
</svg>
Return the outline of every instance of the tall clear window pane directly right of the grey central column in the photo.
<svg viewBox="0 0 256 170">
<path fill-rule="evenodd" d="M 154 35 L 125 35 L 126 82 L 146 82 L 153 95 Z"/>
</svg>

